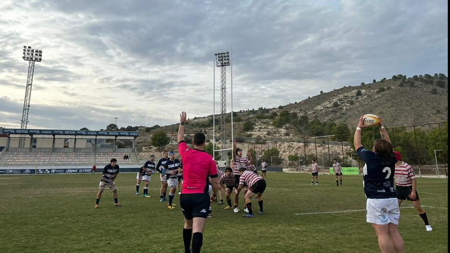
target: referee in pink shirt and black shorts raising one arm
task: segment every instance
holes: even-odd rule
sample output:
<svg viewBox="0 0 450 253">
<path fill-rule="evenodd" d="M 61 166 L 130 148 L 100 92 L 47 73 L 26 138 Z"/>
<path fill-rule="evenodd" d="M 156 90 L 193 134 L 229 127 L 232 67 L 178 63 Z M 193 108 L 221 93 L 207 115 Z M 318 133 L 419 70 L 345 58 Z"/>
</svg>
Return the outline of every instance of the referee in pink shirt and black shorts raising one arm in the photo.
<svg viewBox="0 0 450 253">
<path fill-rule="evenodd" d="M 183 190 L 179 203 L 184 215 L 183 241 L 185 252 L 200 252 L 203 244 L 203 229 L 210 208 L 208 176 L 211 177 L 213 198 L 218 190 L 218 178 L 214 159 L 205 151 L 205 134 L 196 133 L 189 148 L 184 140 L 186 112 L 180 114 L 178 128 L 178 151 L 183 156 Z"/>
</svg>

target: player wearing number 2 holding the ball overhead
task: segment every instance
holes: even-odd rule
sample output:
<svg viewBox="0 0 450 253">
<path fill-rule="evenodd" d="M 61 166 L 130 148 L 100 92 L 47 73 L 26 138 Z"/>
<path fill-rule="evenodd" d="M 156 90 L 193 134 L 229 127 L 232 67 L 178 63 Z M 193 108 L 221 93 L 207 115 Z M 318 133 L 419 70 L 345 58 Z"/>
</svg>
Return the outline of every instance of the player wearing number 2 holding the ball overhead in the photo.
<svg viewBox="0 0 450 253">
<path fill-rule="evenodd" d="M 367 197 L 366 220 L 375 230 L 381 252 L 404 252 L 403 238 L 398 233 L 400 209 L 394 190 L 396 159 L 391 140 L 380 120 L 381 139 L 374 141 L 370 151 L 361 144 L 363 127 L 364 119 L 361 117 L 353 144 L 358 157 L 366 163 L 363 168 L 364 193 Z"/>
</svg>

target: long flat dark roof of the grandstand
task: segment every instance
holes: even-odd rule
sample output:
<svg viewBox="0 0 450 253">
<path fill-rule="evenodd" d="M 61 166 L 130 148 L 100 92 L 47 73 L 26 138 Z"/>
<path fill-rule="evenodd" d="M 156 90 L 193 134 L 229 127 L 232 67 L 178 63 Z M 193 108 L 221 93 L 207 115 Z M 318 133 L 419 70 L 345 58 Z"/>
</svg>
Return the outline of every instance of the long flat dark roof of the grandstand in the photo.
<svg viewBox="0 0 450 253">
<path fill-rule="evenodd" d="M 12 138 L 36 137 L 36 138 L 77 138 L 77 139 L 136 139 L 139 132 L 125 131 L 83 131 L 83 130 L 49 130 L 49 129 L 0 129 Z"/>
</svg>

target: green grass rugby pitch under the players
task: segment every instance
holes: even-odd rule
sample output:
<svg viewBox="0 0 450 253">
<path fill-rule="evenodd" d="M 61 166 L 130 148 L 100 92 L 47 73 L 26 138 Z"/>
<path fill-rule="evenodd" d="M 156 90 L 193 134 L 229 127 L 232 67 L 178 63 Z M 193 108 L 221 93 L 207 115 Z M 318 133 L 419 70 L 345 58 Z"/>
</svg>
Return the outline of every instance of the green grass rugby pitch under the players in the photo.
<svg viewBox="0 0 450 253">
<path fill-rule="evenodd" d="M 202 252 L 379 252 L 365 219 L 361 176 L 344 176 L 344 186 L 336 187 L 334 176 L 320 175 L 311 186 L 309 174 L 267 174 L 264 215 L 256 201 L 253 219 L 213 204 Z M 150 182 L 151 198 L 144 198 L 134 195 L 136 174 L 119 174 L 123 206 L 114 206 L 106 189 L 94 209 L 99 178 L 1 176 L 0 252 L 183 252 L 183 215 L 179 205 L 168 210 L 159 202 L 158 176 Z M 406 251 L 447 252 L 447 180 L 419 178 L 418 192 L 433 231 L 403 202 L 399 231 Z M 340 211 L 348 212 L 333 213 Z"/>
</svg>

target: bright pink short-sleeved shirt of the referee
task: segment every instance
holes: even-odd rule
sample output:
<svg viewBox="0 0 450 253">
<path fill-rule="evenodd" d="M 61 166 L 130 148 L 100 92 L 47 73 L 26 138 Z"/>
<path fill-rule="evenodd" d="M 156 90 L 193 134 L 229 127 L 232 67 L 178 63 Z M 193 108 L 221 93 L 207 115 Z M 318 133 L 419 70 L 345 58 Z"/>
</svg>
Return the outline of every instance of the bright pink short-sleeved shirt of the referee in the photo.
<svg viewBox="0 0 450 253">
<path fill-rule="evenodd" d="M 216 163 L 205 150 L 191 149 L 185 141 L 178 144 L 183 157 L 183 194 L 207 193 L 208 175 L 217 177 Z"/>
</svg>

